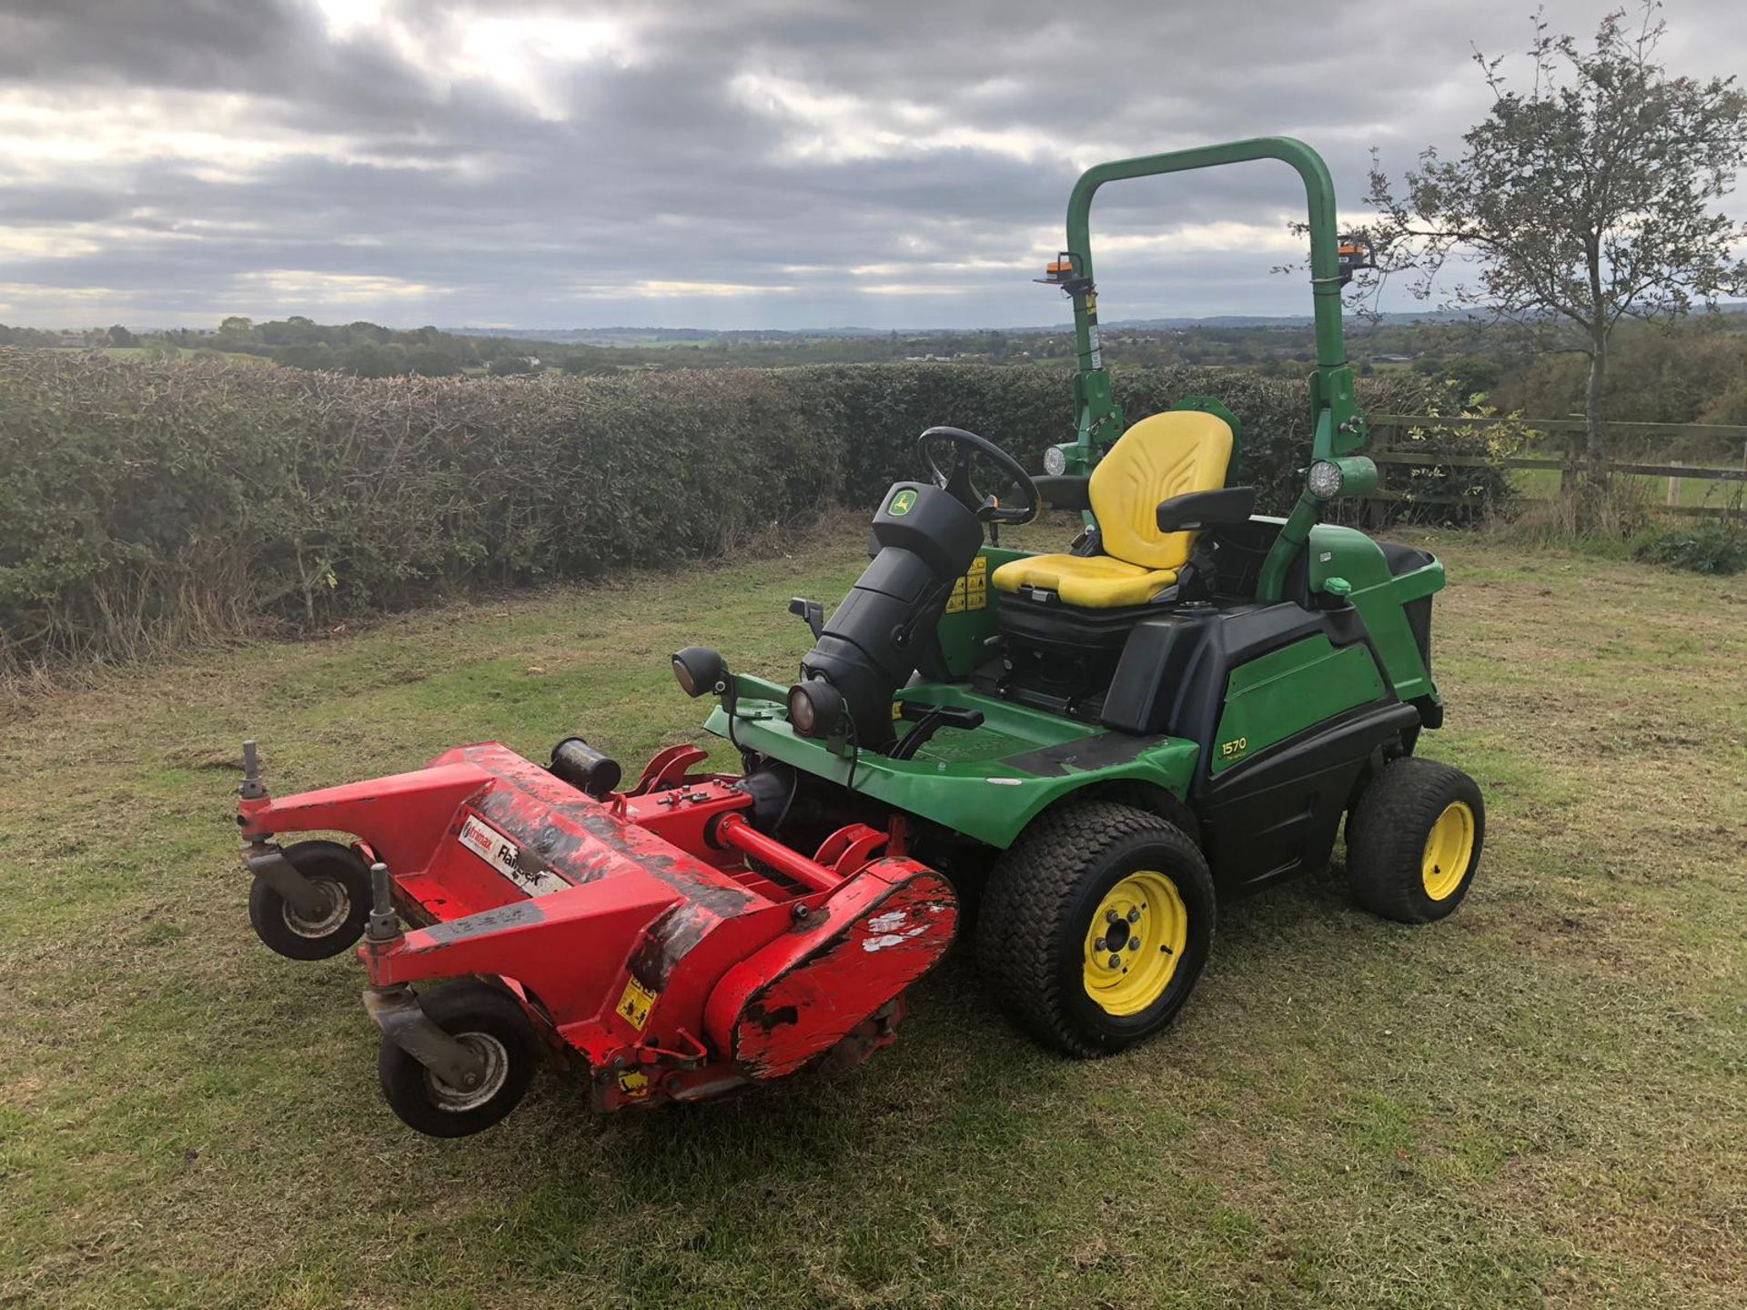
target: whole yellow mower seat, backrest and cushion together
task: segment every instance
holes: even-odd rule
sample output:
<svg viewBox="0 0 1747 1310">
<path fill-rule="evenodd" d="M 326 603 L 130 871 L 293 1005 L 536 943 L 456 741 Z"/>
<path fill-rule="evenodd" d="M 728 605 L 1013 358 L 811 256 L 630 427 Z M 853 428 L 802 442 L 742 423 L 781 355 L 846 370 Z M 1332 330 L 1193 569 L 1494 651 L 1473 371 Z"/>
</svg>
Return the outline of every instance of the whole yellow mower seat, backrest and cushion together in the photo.
<svg viewBox="0 0 1747 1310">
<path fill-rule="evenodd" d="M 996 590 L 1055 592 L 1064 604 L 1109 610 L 1146 604 L 1177 580 L 1195 533 L 1160 533 L 1158 503 L 1218 491 L 1232 463 L 1232 428 L 1216 414 L 1174 409 L 1141 419 L 1092 470 L 1087 487 L 1104 554 L 1027 555 L 1003 564 Z"/>
</svg>

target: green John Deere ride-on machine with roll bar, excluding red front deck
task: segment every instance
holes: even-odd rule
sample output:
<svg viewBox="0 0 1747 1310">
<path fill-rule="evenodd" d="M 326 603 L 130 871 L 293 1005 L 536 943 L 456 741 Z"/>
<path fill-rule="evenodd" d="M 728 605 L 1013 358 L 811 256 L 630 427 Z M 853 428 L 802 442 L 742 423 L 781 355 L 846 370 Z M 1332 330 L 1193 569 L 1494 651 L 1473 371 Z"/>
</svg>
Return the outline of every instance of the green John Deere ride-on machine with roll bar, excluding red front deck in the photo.
<svg viewBox="0 0 1747 1310">
<path fill-rule="evenodd" d="M 1284 519 L 1226 486 L 1242 433 L 1218 400 L 1123 419 L 1088 241 L 1108 182 L 1254 159 L 1291 164 L 1309 194 L 1314 438 Z M 788 838 L 854 814 L 898 826 L 961 887 L 980 884 L 978 968 L 1062 1051 L 1104 1055 L 1169 1024 L 1207 961 L 1218 900 L 1324 868 L 1342 816 L 1366 908 L 1429 922 L 1473 882 L 1480 789 L 1415 756 L 1443 723 L 1443 566 L 1319 522 L 1377 484 L 1340 300 L 1368 265 L 1363 241 L 1336 238 L 1333 183 L 1302 141 L 1088 169 L 1041 279 L 1073 300 L 1076 440 L 1034 477 L 975 433 L 922 433 L 929 477 L 887 491 L 861 580 L 828 622 L 791 604 L 816 632 L 793 686 L 728 674 L 715 652 L 676 657 L 694 693 L 722 688 L 708 727 L 732 737 Z M 1017 500 L 984 496 L 977 461 Z M 1045 505 L 1083 515 L 1066 550 L 984 543 L 984 524 Z"/>
</svg>

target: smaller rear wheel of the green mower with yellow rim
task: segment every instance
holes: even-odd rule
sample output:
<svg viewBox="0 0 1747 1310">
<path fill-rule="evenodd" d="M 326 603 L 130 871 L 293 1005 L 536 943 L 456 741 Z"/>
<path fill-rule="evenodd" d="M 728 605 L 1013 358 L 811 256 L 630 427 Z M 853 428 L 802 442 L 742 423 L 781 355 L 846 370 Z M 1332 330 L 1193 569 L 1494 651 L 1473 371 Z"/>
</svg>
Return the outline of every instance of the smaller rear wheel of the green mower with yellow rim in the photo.
<svg viewBox="0 0 1747 1310">
<path fill-rule="evenodd" d="M 1480 786 L 1460 769 L 1408 756 L 1359 793 L 1347 819 L 1347 880 L 1371 914 L 1443 919 L 1467 896 L 1487 837 Z"/>
</svg>

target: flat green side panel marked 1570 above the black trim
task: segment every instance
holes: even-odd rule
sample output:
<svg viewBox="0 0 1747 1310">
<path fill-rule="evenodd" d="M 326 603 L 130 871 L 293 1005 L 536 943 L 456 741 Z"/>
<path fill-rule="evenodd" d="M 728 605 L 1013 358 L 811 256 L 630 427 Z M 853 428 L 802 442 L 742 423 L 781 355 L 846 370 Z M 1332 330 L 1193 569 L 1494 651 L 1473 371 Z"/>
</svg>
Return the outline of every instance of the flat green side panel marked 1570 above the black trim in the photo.
<svg viewBox="0 0 1747 1310">
<path fill-rule="evenodd" d="M 1235 763 L 1305 728 L 1385 695 L 1366 646 L 1335 646 L 1321 632 L 1232 671 L 1209 769 Z"/>
</svg>

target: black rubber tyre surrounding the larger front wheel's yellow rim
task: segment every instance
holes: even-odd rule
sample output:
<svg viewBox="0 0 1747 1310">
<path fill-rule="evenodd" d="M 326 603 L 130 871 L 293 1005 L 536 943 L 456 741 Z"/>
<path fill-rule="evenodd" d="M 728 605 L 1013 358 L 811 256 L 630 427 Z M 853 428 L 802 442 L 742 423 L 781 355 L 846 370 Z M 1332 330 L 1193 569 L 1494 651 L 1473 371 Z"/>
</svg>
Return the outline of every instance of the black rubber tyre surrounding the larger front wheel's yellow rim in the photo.
<svg viewBox="0 0 1747 1310">
<path fill-rule="evenodd" d="M 1111 1015 L 1087 994 L 1085 934 L 1104 894 L 1137 870 L 1176 884 L 1188 941 L 1157 1001 Z M 1034 1038 L 1097 1058 L 1176 1017 L 1207 964 L 1216 914 L 1207 859 L 1181 828 L 1132 805 L 1067 803 L 1034 819 L 996 863 L 977 924 L 977 966 Z"/>
</svg>

